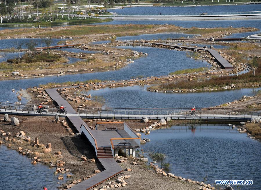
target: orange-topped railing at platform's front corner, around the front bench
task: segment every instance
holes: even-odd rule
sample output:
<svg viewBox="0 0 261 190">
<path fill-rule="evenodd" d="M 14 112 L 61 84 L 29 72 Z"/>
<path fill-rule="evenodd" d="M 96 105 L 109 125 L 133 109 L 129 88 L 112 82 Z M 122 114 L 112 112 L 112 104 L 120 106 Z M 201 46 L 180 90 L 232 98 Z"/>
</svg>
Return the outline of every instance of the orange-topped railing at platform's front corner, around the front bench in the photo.
<svg viewBox="0 0 261 190">
<path fill-rule="evenodd" d="M 110 143 L 112 149 L 139 148 L 140 138 L 111 138 Z"/>
</svg>

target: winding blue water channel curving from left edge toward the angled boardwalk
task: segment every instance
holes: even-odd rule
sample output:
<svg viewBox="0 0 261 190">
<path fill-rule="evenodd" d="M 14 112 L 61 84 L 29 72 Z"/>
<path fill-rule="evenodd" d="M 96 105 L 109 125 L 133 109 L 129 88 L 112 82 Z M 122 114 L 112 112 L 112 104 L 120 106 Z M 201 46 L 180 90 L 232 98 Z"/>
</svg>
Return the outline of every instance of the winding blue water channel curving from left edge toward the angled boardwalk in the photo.
<svg viewBox="0 0 261 190">
<path fill-rule="evenodd" d="M 126 67 L 116 71 L 0 81 L 0 94 L 4 94 L 4 96 L 0 96 L 0 101 L 17 101 L 16 94 L 15 92 L 12 92 L 12 89 L 26 89 L 28 87 L 39 86 L 39 84 L 46 84 L 50 82 L 62 83 L 66 81 L 85 81 L 94 78 L 100 79 L 102 81 L 123 80 L 139 75 L 144 77 L 161 76 L 176 70 L 210 66 L 205 61 L 194 61 L 193 59 L 188 58 L 186 56 L 186 52 L 183 51 L 139 46 L 120 46 L 119 48 L 131 48 L 132 50 L 138 52 L 148 53 L 148 56 L 141 57 L 135 60 L 134 63 L 130 63 Z M 23 101 L 22 102 L 25 103 L 26 100 Z"/>
</svg>

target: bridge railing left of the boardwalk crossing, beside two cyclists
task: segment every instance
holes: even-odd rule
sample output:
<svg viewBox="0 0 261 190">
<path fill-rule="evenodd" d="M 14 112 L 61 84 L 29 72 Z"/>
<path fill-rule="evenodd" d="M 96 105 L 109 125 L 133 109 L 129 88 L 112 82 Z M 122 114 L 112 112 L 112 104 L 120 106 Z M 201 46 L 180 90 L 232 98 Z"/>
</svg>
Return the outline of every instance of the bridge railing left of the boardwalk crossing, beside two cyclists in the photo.
<svg viewBox="0 0 261 190">
<path fill-rule="evenodd" d="M 44 113 L 37 113 L 39 110 L 38 105 L 33 104 L 16 104 L 16 103 L 7 103 L 7 102 L 0 102 L 0 113 L 11 113 L 17 115 L 55 115 L 60 110 L 59 106 L 52 106 L 52 105 L 42 105 L 43 108 L 41 110 Z M 64 107 L 66 110 L 66 107 Z"/>
</svg>

